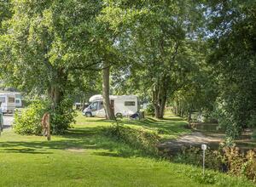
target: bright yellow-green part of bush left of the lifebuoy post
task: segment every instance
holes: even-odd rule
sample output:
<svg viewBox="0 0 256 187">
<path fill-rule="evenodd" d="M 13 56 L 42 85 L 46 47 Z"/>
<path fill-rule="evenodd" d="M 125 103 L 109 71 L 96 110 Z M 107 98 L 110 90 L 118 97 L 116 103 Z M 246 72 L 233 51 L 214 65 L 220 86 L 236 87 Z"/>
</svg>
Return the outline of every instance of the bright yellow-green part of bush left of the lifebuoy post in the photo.
<svg viewBox="0 0 256 187">
<path fill-rule="evenodd" d="M 14 129 L 19 134 L 40 134 L 42 133 L 41 118 L 46 111 L 46 103 L 34 101 L 26 109 L 15 112 Z"/>
</svg>

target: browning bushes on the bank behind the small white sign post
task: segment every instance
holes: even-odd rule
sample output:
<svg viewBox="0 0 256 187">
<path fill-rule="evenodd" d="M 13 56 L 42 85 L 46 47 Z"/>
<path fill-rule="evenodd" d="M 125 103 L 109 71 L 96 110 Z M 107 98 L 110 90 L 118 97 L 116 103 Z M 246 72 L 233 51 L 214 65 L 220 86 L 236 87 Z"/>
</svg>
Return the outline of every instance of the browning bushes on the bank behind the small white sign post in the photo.
<svg viewBox="0 0 256 187">
<path fill-rule="evenodd" d="M 182 153 L 174 157 L 174 161 L 201 167 L 201 152 L 201 149 L 195 147 L 183 149 Z M 207 150 L 206 167 L 228 172 L 231 175 L 246 177 L 256 182 L 256 150 L 248 150 L 246 154 L 241 154 L 235 146 L 225 146 L 219 150 Z M 198 178 L 200 180 L 206 179 L 201 178 L 201 176 Z"/>
</svg>

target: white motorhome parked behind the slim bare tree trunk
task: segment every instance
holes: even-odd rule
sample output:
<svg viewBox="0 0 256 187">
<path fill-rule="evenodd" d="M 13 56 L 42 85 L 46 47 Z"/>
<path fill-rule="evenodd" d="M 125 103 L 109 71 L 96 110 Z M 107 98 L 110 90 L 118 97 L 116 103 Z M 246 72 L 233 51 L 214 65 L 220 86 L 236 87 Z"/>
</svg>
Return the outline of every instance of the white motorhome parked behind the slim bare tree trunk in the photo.
<svg viewBox="0 0 256 187">
<path fill-rule="evenodd" d="M 110 95 L 109 99 L 115 116 L 131 116 L 139 111 L 138 98 L 136 95 Z M 94 95 L 89 101 L 91 104 L 84 109 L 84 116 L 106 116 L 102 95 Z"/>
</svg>

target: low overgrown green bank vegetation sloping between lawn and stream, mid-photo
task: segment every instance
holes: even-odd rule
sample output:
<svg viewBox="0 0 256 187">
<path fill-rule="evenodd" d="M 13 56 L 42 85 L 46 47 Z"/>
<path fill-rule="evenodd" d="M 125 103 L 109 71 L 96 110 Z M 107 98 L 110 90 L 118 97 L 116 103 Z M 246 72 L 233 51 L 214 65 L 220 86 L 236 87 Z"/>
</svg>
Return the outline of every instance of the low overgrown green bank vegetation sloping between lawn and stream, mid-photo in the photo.
<svg viewBox="0 0 256 187">
<path fill-rule="evenodd" d="M 156 133 L 121 125 L 108 127 L 105 133 L 108 137 L 128 144 L 135 149 L 143 150 L 144 154 L 159 155 L 157 144 L 159 144 L 160 137 Z"/>
</svg>

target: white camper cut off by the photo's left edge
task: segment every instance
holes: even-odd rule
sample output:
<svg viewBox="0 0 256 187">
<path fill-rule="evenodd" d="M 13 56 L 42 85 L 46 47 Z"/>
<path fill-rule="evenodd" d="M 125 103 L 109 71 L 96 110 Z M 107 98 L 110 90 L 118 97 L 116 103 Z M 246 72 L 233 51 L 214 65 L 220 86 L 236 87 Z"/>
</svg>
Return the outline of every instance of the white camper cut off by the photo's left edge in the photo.
<svg viewBox="0 0 256 187">
<path fill-rule="evenodd" d="M 0 93 L 0 102 L 3 113 L 15 111 L 15 94 Z"/>
</svg>

